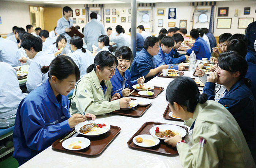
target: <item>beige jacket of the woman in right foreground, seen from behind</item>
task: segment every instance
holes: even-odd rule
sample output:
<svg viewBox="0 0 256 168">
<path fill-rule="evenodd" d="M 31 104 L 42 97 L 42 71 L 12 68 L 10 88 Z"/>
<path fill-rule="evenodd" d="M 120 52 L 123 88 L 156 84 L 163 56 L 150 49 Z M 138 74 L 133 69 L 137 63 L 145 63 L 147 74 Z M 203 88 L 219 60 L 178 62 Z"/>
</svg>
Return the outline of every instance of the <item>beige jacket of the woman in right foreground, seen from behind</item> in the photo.
<svg viewBox="0 0 256 168">
<path fill-rule="evenodd" d="M 185 168 L 256 167 L 238 123 L 224 106 L 212 100 L 198 103 L 193 119 L 185 124 L 191 126 L 194 121 L 193 146 L 186 143 L 177 145 Z"/>
</svg>

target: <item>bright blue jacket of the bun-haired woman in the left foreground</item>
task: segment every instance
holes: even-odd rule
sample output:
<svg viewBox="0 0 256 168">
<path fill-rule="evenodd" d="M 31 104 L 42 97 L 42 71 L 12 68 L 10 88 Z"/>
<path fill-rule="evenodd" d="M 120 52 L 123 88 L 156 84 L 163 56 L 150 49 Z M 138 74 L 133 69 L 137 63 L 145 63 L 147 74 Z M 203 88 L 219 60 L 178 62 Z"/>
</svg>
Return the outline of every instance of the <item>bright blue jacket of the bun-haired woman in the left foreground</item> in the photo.
<svg viewBox="0 0 256 168">
<path fill-rule="evenodd" d="M 56 99 L 45 81 L 24 98 L 18 107 L 13 131 L 13 157 L 22 165 L 71 131 L 68 125 L 68 96 Z"/>
</svg>

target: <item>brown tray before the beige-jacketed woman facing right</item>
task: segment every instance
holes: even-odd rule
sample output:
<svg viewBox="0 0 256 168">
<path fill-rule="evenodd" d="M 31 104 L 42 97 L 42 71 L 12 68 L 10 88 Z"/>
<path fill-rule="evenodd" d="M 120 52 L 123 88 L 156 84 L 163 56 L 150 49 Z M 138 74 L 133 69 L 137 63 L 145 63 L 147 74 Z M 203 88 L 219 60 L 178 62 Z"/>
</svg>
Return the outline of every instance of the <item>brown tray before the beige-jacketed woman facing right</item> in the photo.
<svg viewBox="0 0 256 168">
<path fill-rule="evenodd" d="M 136 99 L 132 99 L 132 100 L 136 100 Z M 112 113 L 118 114 L 118 115 L 124 115 L 128 117 L 140 117 L 144 114 L 144 112 L 147 111 L 147 109 L 151 106 L 151 104 L 152 103 L 148 104 L 147 106 L 140 106 L 138 104 L 138 106 L 133 107 L 129 110 L 116 110 L 116 111 L 112 111 Z"/>
</svg>

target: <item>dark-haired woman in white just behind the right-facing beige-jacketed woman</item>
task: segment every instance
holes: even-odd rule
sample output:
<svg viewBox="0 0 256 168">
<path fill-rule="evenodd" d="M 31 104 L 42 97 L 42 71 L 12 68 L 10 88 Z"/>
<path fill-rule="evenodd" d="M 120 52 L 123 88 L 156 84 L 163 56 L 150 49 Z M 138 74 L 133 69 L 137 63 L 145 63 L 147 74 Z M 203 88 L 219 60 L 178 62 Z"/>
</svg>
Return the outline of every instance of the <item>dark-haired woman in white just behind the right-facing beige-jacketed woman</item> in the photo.
<svg viewBox="0 0 256 168">
<path fill-rule="evenodd" d="M 113 47 L 109 44 L 109 37 L 107 35 L 99 36 L 98 46 L 101 50 L 97 51 L 95 47 L 93 47 L 93 56 L 97 56 L 97 54 L 101 51 L 109 51 L 110 53 L 113 52 Z"/>
</svg>

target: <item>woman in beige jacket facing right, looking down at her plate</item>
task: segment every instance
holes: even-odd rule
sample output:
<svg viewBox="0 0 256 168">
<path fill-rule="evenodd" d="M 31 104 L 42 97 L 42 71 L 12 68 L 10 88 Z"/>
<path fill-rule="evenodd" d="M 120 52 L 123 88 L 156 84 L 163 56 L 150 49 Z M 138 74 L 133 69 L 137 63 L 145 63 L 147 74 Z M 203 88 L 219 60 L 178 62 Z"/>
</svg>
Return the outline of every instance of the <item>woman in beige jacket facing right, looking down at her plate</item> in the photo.
<svg viewBox="0 0 256 168">
<path fill-rule="evenodd" d="M 70 114 L 90 112 L 95 115 L 109 113 L 129 106 L 130 98 L 120 98 L 119 93 L 111 96 L 110 79 L 115 74 L 118 61 L 109 51 L 101 51 L 94 58 L 94 64 L 76 84 Z"/>
</svg>

